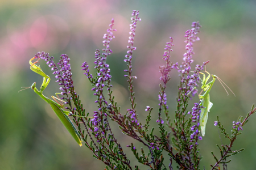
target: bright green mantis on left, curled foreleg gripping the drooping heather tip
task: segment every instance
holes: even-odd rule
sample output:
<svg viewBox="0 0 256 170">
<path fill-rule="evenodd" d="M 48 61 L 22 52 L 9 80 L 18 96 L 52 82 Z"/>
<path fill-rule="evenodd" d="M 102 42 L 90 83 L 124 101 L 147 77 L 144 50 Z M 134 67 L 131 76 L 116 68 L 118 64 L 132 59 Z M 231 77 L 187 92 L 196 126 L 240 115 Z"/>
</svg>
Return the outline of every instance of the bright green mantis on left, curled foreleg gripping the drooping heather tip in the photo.
<svg viewBox="0 0 256 170">
<path fill-rule="evenodd" d="M 44 101 L 46 101 L 49 105 L 51 105 L 53 111 L 56 113 L 57 117 L 59 117 L 60 121 L 62 122 L 62 124 L 65 126 L 65 128 L 69 131 L 69 133 L 72 135 L 72 137 L 75 139 L 75 141 L 82 146 L 82 141 L 81 141 L 81 137 L 80 134 L 78 133 L 78 131 L 76 130 L 75 126 L 72 124 L 71 120 L 68 118 L 68 114 L 70 114 L 71 112 L 69 111 L 64 111 L 63 108 L 64 104 L 63 104 L 63 100 L 60 100 L 58 94 L 60 93 L 56 93 L 55 96 L 52 96 L 52 98 L 55 100 L 51 100 L 48 99 L 48 97 L 44 96 L 42 93 L 43 91 L 46 89 L 46 87 L 49 84 L 49 81 L 51 80 L 51 78 L 46 75 L 43 70 L 40 68 L 40 66 L 35 65 L 35 63 L 37 63 L 39 61 L 36 62 L 32 62 L 32 60 L 35 59 L 35 57 L 31 58 L 29 63 L 30 63 L 30 69 L 32 71 L 35 71 L 35 73 L 38 73 L 39 75 L 43 76 L 43 83 L 42 86 L 40 87 L 40 90 L 38 90 L 35 86 L 36 83 L 33 83 L 31 87 L 28 88 L 32 88 L 32 90 L 34 90 L 34 92 L 36 94 L 38 94 Z M 26 88 L 27 89 L 27 88 Z M 23 90 L 26 90 L 23 89 Z M 56 100 L 57 99 L 57 100 Z M 59 100 L 59 101 L 58 101 Z M 82 116 L 80 116 L 82 117 Z"/>
</svg>

